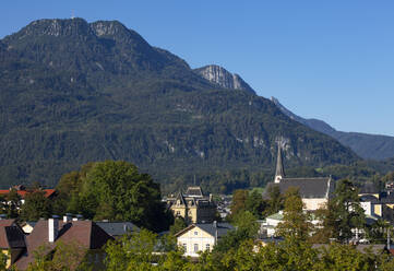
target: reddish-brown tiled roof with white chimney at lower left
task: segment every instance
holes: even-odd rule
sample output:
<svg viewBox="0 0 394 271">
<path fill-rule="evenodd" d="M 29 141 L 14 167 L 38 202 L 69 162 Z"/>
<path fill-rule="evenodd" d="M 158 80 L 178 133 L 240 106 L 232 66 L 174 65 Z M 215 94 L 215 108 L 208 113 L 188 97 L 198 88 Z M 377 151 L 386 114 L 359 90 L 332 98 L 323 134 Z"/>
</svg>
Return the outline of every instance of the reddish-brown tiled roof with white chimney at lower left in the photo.
<svg viewBox="0 0 394 271">
<path fill-rule="evenodd" d="M 48 241 L 48 221 L 40 220 L 33 232 L 26 237 L 27 251 L 16 261 L 19 270 L 25 270 L 34 261 L 34 251 L 39 246 L 46 246 L 48 252 L 56 247 L 58 241 L 63 244 L 76 243 L 85 249 L 99 249 L 109 239 L 114 239 L 103 228 L 92 221 L 59 221 L 59 233 L 55 243 Z"/>
</svg>

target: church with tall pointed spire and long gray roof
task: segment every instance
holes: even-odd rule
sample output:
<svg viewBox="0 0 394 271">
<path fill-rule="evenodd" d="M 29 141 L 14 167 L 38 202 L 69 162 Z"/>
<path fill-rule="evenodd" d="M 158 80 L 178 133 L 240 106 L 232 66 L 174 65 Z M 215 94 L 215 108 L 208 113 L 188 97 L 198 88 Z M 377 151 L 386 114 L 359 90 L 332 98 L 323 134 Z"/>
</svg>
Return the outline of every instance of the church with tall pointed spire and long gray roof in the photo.
<svg viewBox="0 0 394 271">
<path fill-rule="evenodd" d="M 298 188 L 305 204 L 305 210 L 307 211 L 315 211 L 326 207 L 329 199 L 334 192 L 334 180 L 331 176 L 301 178 L 286 177 L 279 145 L 276 158 L 275 179 L 267 185 L 267 188 L 270 186 L 278 186 L 282 195 L 290 187 Z"/>
</svg>

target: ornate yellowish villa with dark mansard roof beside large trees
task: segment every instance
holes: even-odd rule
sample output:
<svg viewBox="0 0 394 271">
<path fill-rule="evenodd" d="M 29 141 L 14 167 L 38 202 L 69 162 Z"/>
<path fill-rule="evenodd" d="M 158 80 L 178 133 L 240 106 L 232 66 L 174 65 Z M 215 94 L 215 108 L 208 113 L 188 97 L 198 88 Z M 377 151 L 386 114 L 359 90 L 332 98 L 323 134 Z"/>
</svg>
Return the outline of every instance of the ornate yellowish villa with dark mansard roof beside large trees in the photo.
<svg viewBox="0 0 394 271">
<path fill-rule="evenodd" d="M 190 223 L 212 223 L 216 217 L 216 204 L 212 195 L 204 196 L 201 187 L 189 187 L 177 197 L 167 198 L 167 207 L 172 211 L 174 216 L 183 217 Z"/>
</svg>

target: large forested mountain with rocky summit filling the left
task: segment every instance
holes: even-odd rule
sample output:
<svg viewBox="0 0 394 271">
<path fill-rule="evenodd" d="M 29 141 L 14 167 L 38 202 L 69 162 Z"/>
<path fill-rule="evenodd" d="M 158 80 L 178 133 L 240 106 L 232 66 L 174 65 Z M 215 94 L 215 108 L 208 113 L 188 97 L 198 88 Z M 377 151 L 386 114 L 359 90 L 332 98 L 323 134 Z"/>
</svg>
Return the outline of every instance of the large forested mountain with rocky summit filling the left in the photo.
<svg viewBox="0 0 394 271">
<path fill-rule="evenodd" d="M 39 20 L 0 40 L 0 111 L 5 188 L 53 186 L 87 162 L 124 160 L 168 190 L 223 173 L 213 185 L 228 192 L 248 186 L 248 174 L 266 172 L 254 185 L 272 178 L 278 140 L 287 166 L 358 160 L 271 101 L 210 82 L 117 21 Z"/>
</svg>

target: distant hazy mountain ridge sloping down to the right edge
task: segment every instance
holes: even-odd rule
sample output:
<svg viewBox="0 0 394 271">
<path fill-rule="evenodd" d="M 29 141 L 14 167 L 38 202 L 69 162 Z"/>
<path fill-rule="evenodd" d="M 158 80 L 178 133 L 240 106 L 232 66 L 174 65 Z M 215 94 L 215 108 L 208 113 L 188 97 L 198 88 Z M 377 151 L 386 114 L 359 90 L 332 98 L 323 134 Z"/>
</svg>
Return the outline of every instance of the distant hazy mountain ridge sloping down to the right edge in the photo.
<svg viewBox="0 0 394 271">
<path fill-rule="evenodd" d="M 308 126 L 313 130 L 333 137 L 343 145 L 350 148 L 362 158 L 382 161 L 394 157 L 394 137 L 337 131 L 323 120 L 305 119 L 295 115 L 274 97 L 272 97 L 271 101 L 291 119 Z"/>
</svg>

